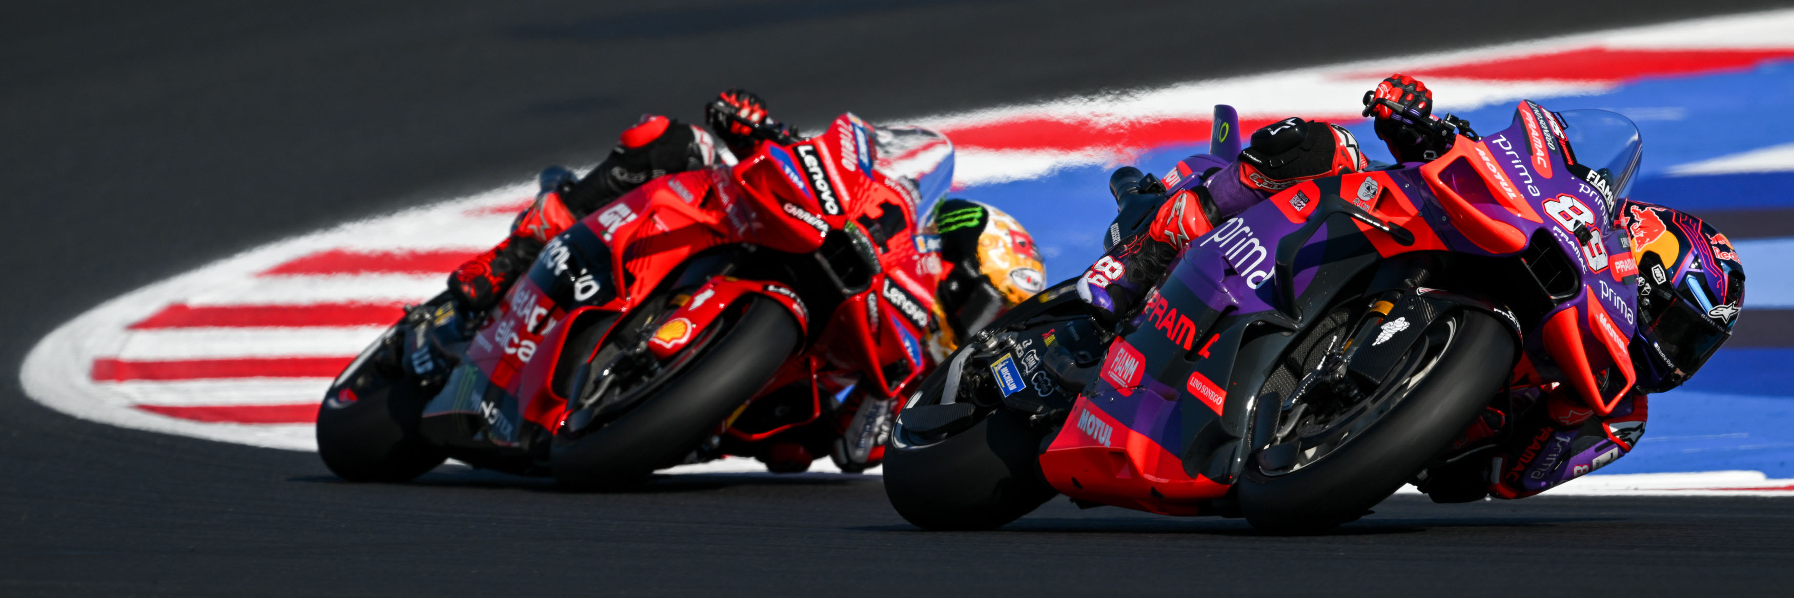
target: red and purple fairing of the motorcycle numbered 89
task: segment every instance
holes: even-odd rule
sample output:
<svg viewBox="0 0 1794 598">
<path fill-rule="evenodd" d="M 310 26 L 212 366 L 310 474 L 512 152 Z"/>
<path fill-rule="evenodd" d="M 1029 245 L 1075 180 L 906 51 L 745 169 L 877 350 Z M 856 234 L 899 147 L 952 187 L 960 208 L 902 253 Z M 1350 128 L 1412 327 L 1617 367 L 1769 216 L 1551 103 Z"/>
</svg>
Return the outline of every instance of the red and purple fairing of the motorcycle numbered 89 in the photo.
<svg viewBox="0 0 1794 598">
<path fill-rule="evenodd" d="M 1534 125 L 1537 116 L 1534 113 Z M 1073 419 L 1041 457 L 1048 480 L 1069 496 L 1154 512 L 1188 510 L 1200 500 L 1220 498 L 1252 449 L 1241 439 L 1252 439 L 1254 426 L 1268 424 L 1258 414 L 1274 414 L 1258 403 L 1281 399 L 1276 392 L 1259 392 L 1272 374 L 1268 363 L 1286 353 L 1288 338 L 1317 320 L 1344 281 L 1363 276 L 1381 261 L 1424 251 L 1516 256 L 1539 240 L 1555 242 L 1545 251 L 1572 256 L 1582 292 L 1528 324 L 1514 324 L 1525 326 L 1527 355 L 1541 365 L 1541 372 L 1570 383 L 1602 414 L 1613 410 L 1633 383 L 1624 338 L 1631 337 L 1634 322 L 1615 320 L 1604 301 L 1597 301 L 1595 288 L 1602 288 L 1606 304 L 1636 313 L 1636 297 L 1624 292 L 1636 283 L 1636 272 L 1609 272 L 1615 265 L 1598 261 L 1600 254 L 1629 254 L 1629 247 L 1611 226 L 1611 201 L 1598 190 L 1575 177 L 1534 175 L 1537 165 L 1530 159 L 1536 158 L 1550 159 L 1552 172 L 1570 170 L 1568 156 L 1573 154 L 1561 129 L 1546 131 L 1561 127 L 1555 115 L 1539 129 L 1537 141 L 1527 140 L 1527 127 L 1516 113 L 1507 131 L 1482 141 L 1460 136 L 1451 152 L 1419 168 L 1299 184 L 1200 236 L 1146 299 L 1166 304 L 1148 303 L 1125 338 L 1116 342 L 1125 342 L 1132 355 L 1112 351 L 1102 365 L 1110 371 L 1127 365 L 1116 365 L 1116 360 L 1141 360 L 1143 376 L 1137 383 L 1098 376 L 1078 399 Z M 1546 150 L 1534 152 L 1528 143 L 1546 143 Z M 1374 183 L 1374 190 L 1365 181 Z M 1564 195 L 1581 202 L 1591 218 L 1543 217 L 1554 206 L 1566 206 Z M 1315 220 L 1322 209 L 1328 217 Z M 1586 220 L 1593 222 L 1575 226 Z M 1398 236 L 1398 229 L 1412 238 Z M 1550 233 L 1536 235 L 1543 229 Z M 1270 261 L 1259 260 L 1261 249 L 1276 258 L 1272 270 L 1261 267 Z M 1624 263 L 1618 267 L 1624 269 Z M 1604 281 L 1609 278 L 1618 281 L 1618 290 L 1602 286 L 1609 285 Z M 1173 310 L 1179 315 L 1166 324 Z M 1512 319 L 1498 306 L 1487 310 Z M 1184 317 L 1191 320 L 1189 328 L 1198 329 L 1197 335 L 1182 331 Z M 1202 320 L 1211 324 L 1195 326 Z M 1202 338 L 1191 342 L 1202 351 L 1186 347 L 1186 337 Z M 1588 351 L 1591 347 L 1600 351 Z M 1213 401 L 1204 399 L 1215 389 L 1225 392 L 1220 414 L 1209 408 Z M 1148 408 L 1141 408 L 1143 401 Z M 1170 424 L 1173 414 L 1175 426 Z M 1127 444 L 1091 444 L 1087 433 L 1075 430 L 1080 417 L 1121 428 L 1110 437 L 1127 439 Z M 1182 476 L 1164 476 L 1163 464 L 1168 460 L 1161 451 L 1180 455 Z M 1145 480 L 1145 474 L 1136 474 L 1143 466 L 1166 480 L 1159 485 L 1180 482 L 1186 489 L 1204 491 L 1171 500 L 1159 485 L 1118 482 Z"/>
</svg>

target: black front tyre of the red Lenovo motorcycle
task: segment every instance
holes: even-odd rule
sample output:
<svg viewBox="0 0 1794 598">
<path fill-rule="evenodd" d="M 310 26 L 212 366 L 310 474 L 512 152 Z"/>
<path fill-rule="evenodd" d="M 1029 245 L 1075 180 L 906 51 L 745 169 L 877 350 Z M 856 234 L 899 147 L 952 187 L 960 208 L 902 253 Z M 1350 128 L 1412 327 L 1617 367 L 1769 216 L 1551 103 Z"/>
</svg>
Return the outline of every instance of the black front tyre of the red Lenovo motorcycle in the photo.
<svg viewBox="0 0 1794 598">
<path fill-rule="evenodd" d="M 676 464 L 771 381 L 802 338 L 784 306 L 748 295 L 739 319 L 640 405 L 590 433 L 558 433 L 551 457 L 554 480 L 570 491 L 606 491 Z"/>
</svg>

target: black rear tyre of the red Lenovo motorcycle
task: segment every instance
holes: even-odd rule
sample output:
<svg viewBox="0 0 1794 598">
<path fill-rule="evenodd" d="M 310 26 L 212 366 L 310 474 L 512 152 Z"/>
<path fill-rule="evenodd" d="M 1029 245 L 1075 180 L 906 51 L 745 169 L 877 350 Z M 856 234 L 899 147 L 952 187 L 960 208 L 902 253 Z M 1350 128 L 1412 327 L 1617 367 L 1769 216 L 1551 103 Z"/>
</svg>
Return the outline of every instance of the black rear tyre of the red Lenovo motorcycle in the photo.
<svg viewBox="0 0 1794 598">
<path fill-rule="evenodd" d="M 364 376 L 379 376 L 371 365 Z M 409 378 L 382 380 L 355 403 L 318 408 L 318 457 L 348 482 L 407 482 L 448 458 L 418 433 L 423 394 Z"/>
</svg>

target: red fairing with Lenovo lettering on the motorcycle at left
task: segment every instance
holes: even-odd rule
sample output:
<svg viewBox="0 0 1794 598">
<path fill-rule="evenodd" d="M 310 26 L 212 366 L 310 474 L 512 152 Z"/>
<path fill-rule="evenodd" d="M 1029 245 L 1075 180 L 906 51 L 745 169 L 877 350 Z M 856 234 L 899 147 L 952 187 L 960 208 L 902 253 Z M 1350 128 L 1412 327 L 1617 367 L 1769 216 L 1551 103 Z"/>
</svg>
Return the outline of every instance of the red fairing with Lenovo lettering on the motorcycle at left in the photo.
<svg viewBox="0 0 1794 598">
<path fill-rule="evenodd" d="M 938 265 L 931 270 L 915 243 L 897 235 L 915 229 L 917 206 L 924 197 L 945 193 L 951 172 L 953 147 L 940 134 L 926 129 L 875 134 L 858 116 L 843 115 L 813 140 L 789 147 L 761 143 L 736 167 L 648 181 L 547 240 L 531 270 L 468 337 L 465 349 L 443 347 L 445 355 L 465 351 L 465 358 L 425 406 L 425 426 L 450 446 L 527 449 L 524 423 L 558 430 L 565 417 L 567 397 L 551 381 L 558 363 L 574 358 L 562 349 L 570 333 L 583 329 L 576 326 L 587 326 L 579 322 L 633 310 L 712 247 L 743 243 L 806 254 L 831 235 L 841 235 L 852 252 L 863 254 L 870 279 L 856 283 L 865 288 L 852 290 L 832 320 L 823 322 L 823 337 L 838 338 L 843 349 L 823 351 L 829 360 L 788 362 L 773 387 L 804 380 L 814 387 L 818 376 L 834 380 L 845 371 L 865 372 L 874 381 L 863 385 L 870 394 L 893 397 L 927 369 L 922 338 L 938 326 L 929 313 Z M 545 190 L 538 204 L 553 195 Z M 807 306 L 786 283 L 712 278 L 689 288 L 684 304 L 653 322 L 662 335 L 655 335 L 649 351 L 658 358 L 676 353 L 723 306 L 746 294 L 782 304 L 811 335 Z M 814 421 L 822 415 L 820 394 L 811 399 L 816 405 L 809 421 Z M 779 430 L 732 435 L 757 440 Z"/>
</svg>

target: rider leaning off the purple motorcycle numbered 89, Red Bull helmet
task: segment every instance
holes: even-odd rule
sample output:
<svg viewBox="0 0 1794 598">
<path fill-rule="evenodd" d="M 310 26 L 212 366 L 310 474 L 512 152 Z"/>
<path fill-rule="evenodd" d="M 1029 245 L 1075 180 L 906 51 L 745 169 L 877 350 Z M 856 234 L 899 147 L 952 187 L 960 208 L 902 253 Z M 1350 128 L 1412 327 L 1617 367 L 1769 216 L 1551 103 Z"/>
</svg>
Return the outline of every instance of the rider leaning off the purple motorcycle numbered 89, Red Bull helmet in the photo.
<svg viewBox="0 0 1794 598">
<path fill-rule="evenodd" d="M 1399 163 L 1439 158 L 1451 149 L 1453 131 L 1469 131 L 1467 122 L 1433 116 L 1432 91 L 1401 73 L 1365 91 L 1363 104 L 1363 116 L 1374 118 L 1376 136 Z M 1184 245 L 1215 226 L 1297 183 L 1367 168 L 1351 132 L 1302 118 L 1252 132 L 1234 161 L 1191 156 L 1164 183 L 1200 183 L 1164 199 L 1146 235 L 1110 249 L 1080 279 L 1078 294 L 1109 317 L 1121 317 Z M 1164 193 L 1164 183 L 1146 177 L 1137 192 Z M 1441 503 L 1525 498 L 1611 464 L 1643 435 L 1647 394 L 1686 381 L 1731 337 L 1744 304 L 1744 265 L 1731 242 L 1670 208 L 1627 199 L 1618 211 L 1615 226 L 1627 227 L 1638 260 L 1633 390 L 1611 414 L 1598 415 L 1568 389 L 1541 383 L 1532 363 L 1521 360 L 1509 390 L 1453 442 L 1441 466 L 1414 480 L 1421 492 Z"/>
</svg>

